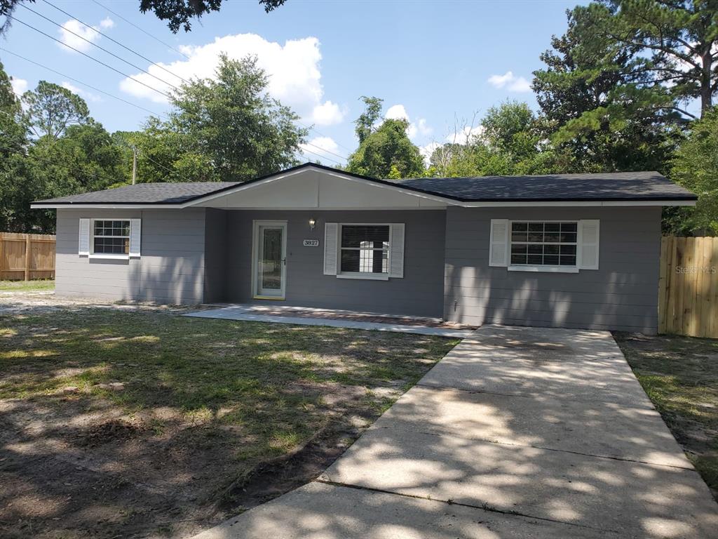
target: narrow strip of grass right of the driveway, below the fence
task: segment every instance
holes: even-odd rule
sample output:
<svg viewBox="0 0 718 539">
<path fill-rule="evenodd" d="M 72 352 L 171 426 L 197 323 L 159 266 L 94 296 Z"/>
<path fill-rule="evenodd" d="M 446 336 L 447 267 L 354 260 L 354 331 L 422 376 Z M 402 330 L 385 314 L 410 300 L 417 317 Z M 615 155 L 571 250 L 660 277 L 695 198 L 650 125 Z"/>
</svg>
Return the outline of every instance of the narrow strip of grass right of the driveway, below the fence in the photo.
<svg viewBox="0 0 718 539">
<path fill-rule="evenodd" d="M 718 499 L 718 340 L 615 333 L 638 381 Z"/>
</svg>

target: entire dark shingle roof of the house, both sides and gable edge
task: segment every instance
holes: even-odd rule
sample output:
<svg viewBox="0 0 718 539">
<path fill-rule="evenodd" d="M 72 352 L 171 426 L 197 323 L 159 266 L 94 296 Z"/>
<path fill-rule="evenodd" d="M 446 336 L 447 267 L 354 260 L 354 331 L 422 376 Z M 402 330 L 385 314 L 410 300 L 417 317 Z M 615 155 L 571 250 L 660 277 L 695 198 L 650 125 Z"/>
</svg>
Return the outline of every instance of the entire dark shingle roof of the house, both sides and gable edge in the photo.
<svg viewBox="0 0 718 539">
<path fill-rule="evenodd" d="M 530 201 L 694 201 L 696 195 L 658 172 L 605 172 L 599 174 L 552 174 L 538 176 L 480 176 L 473 178 L 414 178 L 376 180 L 306 163 L 282 172 L 314 167 L 383 185 L 396 185 L 418 193 L 439 195 L 461 202 Z M 281 173 L 281 172 L 280 172 Z M 251 184 L 265 178 L 250 180 Z M 36 201 L 34 204 L 180 204 L 228 190 L 240 183 L 139 183 L 82 195 Z"/>
</svg>

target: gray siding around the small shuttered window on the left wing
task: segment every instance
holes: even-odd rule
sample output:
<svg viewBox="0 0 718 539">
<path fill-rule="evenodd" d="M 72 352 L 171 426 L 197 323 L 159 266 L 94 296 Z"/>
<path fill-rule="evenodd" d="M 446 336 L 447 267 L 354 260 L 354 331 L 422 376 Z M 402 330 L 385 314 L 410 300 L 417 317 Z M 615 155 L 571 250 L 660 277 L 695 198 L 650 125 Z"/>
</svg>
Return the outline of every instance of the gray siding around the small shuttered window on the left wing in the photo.
<svg viewBox="0 0 718 539">
<path fill-rule="evenodd" d="M 78 255 L 79 219 L 141 218 L 141 257 Z M 205 210 L 57 210 L 57 295 L 107 301 L 202 303 Z"/>
</svg>

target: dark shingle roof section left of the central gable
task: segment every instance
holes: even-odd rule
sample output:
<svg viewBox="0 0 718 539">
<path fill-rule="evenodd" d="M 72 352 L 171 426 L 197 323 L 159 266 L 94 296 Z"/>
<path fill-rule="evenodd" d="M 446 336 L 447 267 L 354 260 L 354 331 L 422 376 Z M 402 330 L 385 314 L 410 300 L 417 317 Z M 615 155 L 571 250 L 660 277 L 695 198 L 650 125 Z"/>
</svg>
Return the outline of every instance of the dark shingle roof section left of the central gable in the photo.
<svg viewBox="0 0 718 539">
<path fill-rule="evenodd" d="M 237 185 L 237 183 L 138 183 L 81 195 L 50 198 L 46 201 L 36 201 L 34 204 L 181 204 L 192 198 L 209 195 L 232 185 Z"/>
</svg>

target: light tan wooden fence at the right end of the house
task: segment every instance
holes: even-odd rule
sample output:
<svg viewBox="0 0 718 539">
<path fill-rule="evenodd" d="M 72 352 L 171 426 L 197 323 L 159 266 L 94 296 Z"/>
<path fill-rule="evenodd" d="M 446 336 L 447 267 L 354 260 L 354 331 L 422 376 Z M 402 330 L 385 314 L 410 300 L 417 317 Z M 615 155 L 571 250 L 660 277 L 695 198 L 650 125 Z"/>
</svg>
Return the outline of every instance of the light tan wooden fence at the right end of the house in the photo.
<svg viewBox="0 0 718 539">
<path fill-rule="evenodd" d="M 718 338 L 718 238 L 661 239 L 658 333 Z"/>
</svg>

